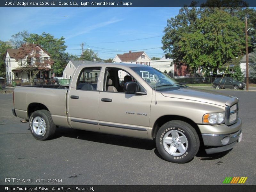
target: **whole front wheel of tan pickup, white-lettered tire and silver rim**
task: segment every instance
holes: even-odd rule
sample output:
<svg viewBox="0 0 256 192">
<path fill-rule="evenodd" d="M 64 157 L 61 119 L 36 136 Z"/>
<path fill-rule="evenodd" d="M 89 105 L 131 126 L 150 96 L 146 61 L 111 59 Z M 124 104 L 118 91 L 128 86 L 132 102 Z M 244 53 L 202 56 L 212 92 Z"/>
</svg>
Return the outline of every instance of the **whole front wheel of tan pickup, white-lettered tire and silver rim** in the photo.
<svg viewBox="0 0 256 192">
<path fill-rule="evenodd" d="M 175 139 L 177 133 L 179 137 Z M 186 140 L 186 142 L 184 142 L 184 140 Z M 159 154 L 166 161 L 172 163 L 186 163 L 192 160 L 194 156 L 196 156 L 199 146 L 200 141 L 196 130 L 190 124 L 183 121 L 169 121 L 160 127 L 156 134 L 156 148 Z M 174 151 L 172 152 L 173 148 Z M 180 148 L 182 149 L 179 151 Z M 169 152 L 167 152 L 167 149 Z"/>
</svg>

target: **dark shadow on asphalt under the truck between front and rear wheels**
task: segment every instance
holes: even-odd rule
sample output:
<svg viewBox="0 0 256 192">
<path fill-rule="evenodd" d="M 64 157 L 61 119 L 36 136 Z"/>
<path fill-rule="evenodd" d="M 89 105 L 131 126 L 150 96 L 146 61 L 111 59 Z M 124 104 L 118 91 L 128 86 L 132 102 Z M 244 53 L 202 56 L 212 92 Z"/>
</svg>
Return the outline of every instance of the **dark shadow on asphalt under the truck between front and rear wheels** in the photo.
<svg viewBox="0 0 256 192">
<path fill-rule="evenodd" d="M 130 148 L 139 148 L 145 150 L 152 150 L 156 148 L 154 140 L 145 140 L 132 137 L 125 137 L 119 135 L 111 135 L 99 132 L 90 132 L 78 129 L 57 127 L 55 136 L 52 139 L 60 137 L 69 137 L 80 140 L 93 141 L 98 143 L 106 143 L 117 146 L 124 146 Z"/>
</svg>

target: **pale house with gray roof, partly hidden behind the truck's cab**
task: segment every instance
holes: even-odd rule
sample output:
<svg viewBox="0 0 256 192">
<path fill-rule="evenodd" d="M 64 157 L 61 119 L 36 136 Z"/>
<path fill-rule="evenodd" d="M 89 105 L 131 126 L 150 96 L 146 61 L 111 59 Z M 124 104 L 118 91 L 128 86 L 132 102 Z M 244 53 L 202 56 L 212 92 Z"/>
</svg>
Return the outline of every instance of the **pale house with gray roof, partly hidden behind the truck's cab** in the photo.
<svg viewBox="0 0 256 192">
<path fill-rule="evenodd" d="M 92 63 L 102 63 L 102 61 L 70 60 L 68 62 L 68 65 L 63 71 L 63 79 L 71 79 L 74 71 L 79 65 L 92 64 Z"/>
</svg>

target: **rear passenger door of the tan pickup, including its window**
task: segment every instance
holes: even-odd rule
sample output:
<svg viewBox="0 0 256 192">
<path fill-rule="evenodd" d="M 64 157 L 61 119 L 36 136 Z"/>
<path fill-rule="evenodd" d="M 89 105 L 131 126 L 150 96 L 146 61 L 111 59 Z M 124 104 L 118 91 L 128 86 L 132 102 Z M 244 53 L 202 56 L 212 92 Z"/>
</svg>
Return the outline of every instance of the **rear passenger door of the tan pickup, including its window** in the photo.
<svg viewBox="0 0 256 192">
<path fill-rule="evenodd" d="M 76 84 L 72 83 L 68 93 L 68 118 L 71 127 L 88 131 L 99 131 L 100 67 L 83 68 Z"/>
</svg>

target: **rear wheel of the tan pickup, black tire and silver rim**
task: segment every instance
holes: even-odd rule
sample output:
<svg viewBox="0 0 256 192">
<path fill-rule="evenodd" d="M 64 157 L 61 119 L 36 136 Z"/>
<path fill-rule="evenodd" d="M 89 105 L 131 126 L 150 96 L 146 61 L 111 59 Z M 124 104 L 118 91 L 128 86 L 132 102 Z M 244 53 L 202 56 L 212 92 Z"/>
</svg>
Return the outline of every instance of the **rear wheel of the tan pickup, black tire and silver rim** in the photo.
<svg viewBox="0 0 256 192">
<path fill-rule="evenodd" d="M 37 140 L 48 140 L 54 135 L 56 125 L 53 123 L 49 111 L 38 110 L 30 116 L 29 128 Z"/>
</svg>

